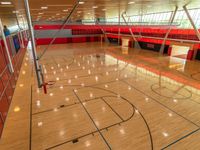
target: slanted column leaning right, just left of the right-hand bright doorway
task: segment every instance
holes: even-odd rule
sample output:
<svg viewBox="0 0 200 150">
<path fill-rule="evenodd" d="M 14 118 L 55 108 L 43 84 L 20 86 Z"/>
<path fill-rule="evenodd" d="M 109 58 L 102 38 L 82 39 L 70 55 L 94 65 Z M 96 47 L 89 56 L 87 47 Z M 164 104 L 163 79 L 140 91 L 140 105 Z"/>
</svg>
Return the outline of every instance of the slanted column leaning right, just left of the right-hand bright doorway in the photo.
<svg viewBox="0 0 200 150">
<path fill-rule="evenodd" d="M 169 26 L 170 26 L 170 27 L 169 27 L 169 29 L 168 29 L 168 31 L 167 31 L 165 37 L 164 37 L 164 40 L 163 40 L 163 42 L 162 42 L 162 45 L 161 45 L 161 47 L 160 47 L 160 54 L 161 54 L 161 55 L 162 55 L 163 52 L 164 52 L 165 43 L 166 43 L 167 37 L 169 36 L 169 33 L 170 33 L 171 29 L 172 29 L 171 26 L 172 26 L 172 24 L 173 24 L 173 22 L 174 22 L 174 18 L 175 18 L 175 16 L 176 16 L 177 10 L 178 10 L 178 7 L 176 6 L 176 8 L 175 8 L 175 10 L 174 10 L 174 12 L 173 12 L 173 14 L 172 14 L 172 16 L 170 17 L 170 23 L 169 23 Z"/>
</svg>

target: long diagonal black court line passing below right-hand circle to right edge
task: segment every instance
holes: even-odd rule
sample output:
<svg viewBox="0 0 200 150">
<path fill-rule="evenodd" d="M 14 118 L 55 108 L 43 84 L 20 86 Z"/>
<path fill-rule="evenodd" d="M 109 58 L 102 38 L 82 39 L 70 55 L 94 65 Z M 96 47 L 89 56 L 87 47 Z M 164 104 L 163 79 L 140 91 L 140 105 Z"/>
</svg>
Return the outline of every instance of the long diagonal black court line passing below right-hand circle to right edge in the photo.
<svg viewBox="0 0 200 150">
<path fill-rule="evenodd" d="M 199 126 L 198 126 L 196 123 L 194 123 L 193 121 L 191 121 L 191 120 L 187 119 L 186 117 L 184 117 L 184 116 L 178 114 L 177 112 L 175 112 L 174 110 L 172 110 L 172 109 L 169 108 L 168 106 L 162 104 L 161 102 L 159 102 L 159 101 L 158 101 L 157 99 L 155 99 L 154 97 L 152 97 L 152 96 L 150 96 L 150 95 L 144 93 L 143 91 L 137 89 L 136 87 L 134 87 L 132 84 L 128 83 L 127 81 L 125 81 L 125 80 L 121 80 L 121 81 L 124 82 L 125 84 L 131 86 L 132 88 L 134 88 L 134 89 L 137 90 L 138 92 L 142 93 L 143 95 L 146 95 L 147 97 L 151 98 L 152 100 L 154 100 L 155 102 L 157 102 L 157 103 L 160 104 L 161 106 L 163 106 L 163 107 L 165 107 L 166 109 L 168 109 L 168 110 L 172 111 L 173 113 L 175 113 L 176 115 L 178 115 L 178 116 L 182 117 L 183 119 L 187 120 L 188 122 L 190 122 L 191 124 L 195 125 L 196 127 L 199 127 Z"/>
</svg>

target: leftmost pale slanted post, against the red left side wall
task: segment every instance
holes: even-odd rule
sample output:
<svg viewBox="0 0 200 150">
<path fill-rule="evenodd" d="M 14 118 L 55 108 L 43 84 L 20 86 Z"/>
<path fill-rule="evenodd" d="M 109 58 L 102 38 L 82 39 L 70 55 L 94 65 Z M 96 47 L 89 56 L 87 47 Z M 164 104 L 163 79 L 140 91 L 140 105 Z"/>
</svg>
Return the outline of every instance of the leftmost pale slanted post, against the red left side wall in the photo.
<svg viewBox="0 0 200 150">
<path fill-rule="evenodd" d="M 11 57 L 10 57 L 10 52 L 9 52 L 9 49 L 8 49 L 6 37 L 5 37 L 4 31 L 3 31 L 3 24 L 2 24 L 1 19 L 0 19 L 0 30 L 1 30 L 1 35 L 2 35 L 3 42 L 4 42 L 6 54 L 7 54 L 7 57 L 8 57 L 10 72 L 14 73 L 14 68 L 13 68 Z"/>
</svg>

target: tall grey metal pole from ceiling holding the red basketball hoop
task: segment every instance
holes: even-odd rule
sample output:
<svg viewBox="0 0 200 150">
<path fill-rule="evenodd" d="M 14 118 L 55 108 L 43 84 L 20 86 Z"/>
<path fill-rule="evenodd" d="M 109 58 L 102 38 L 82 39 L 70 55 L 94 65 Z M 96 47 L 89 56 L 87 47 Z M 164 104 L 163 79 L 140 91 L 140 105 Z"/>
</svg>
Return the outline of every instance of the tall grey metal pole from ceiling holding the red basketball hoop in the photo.
<svg viewBox="0 0 200 150">
<path fill-rule="evenodd" d="M 31 51 L 33 54 L 33 61 L 34 61 L 34 66 L 35 66 L 35 72 L 37 76 L 37 82 L 38 82 L 38 87 L 42 87 L 42 78 L 40 75 L 40 67 L 38 63 L 38 57 L 37 57 L 37 52 L 36 52 L 36 46 L 35 46 L 35 37 L 34 37 L 34 32 L 33 32 L 33 26 L 32 26 L 32 21 L 31 21 L 31 14 L 30 14 L 30 8 L 29 8 L 29 2 L 28 0 L 24 0 L 25 4 L 25 10 L 26 10 L 26 16 L 27 16 L 27 21 L 28 21 L 28 27 L 29 27 L 29 32 L 30 32 L 30 37 L 31 37 Z"/>
</svg>

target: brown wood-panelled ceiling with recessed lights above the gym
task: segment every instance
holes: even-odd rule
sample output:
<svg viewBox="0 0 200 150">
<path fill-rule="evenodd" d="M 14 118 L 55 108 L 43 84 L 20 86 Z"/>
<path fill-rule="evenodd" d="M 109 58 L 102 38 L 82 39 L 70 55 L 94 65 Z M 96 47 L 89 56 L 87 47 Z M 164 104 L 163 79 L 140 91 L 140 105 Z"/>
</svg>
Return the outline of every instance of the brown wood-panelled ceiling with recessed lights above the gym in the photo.
<svg viewBox="0 0 200 150">
<path fill-rule="evenodd" d="M 11 5 L 0 5 L 0 17 L 25 17 L 24 0 L 10 1 Z M 76 4 L 76 0 L 29 0 L 33 21 L 64 20 Z M 124 11 L 129 15 L 173 11 L 188 4 L 188 8 L 200 8 L 199 0 L 82 0 L 72 15 L 73 20 L 118 17 Z"/>
</svg>

